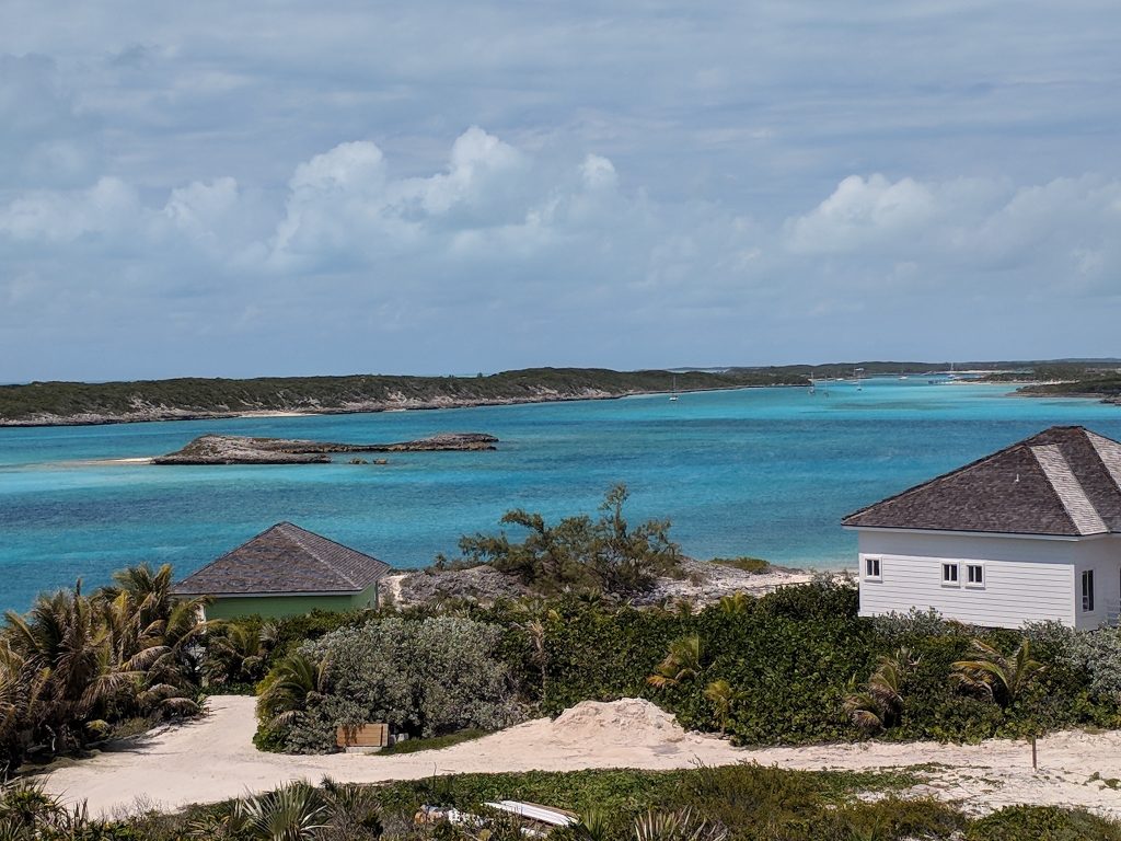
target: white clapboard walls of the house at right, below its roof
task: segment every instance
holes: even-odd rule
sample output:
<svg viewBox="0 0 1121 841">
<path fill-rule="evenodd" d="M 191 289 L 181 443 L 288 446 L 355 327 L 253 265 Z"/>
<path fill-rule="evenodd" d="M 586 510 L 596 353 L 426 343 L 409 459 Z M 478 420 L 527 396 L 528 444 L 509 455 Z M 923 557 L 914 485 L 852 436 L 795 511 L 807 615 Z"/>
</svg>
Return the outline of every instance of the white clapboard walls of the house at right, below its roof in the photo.
<svg viewBox="0 0 1121 841">
<path fill-rule="evenodd" d="M 1104 566 L 1111 537 L 1096 540 L 1049 540 L 1001 535 L 948 535 L 858 529 L 860 551 L 860 614 L 906 613 L 934 608 L 944 617 L 972 625 L 1018 628 L 1025 622 L 1055 620 L 1067 626 L 1099 625 L 1105 619 L 1106 579 L 1114 600 L 1121 572 L 1114 555 L 1113 572 Z M 880 558 L 882 581 L 867 581 L 864 560 Z M 942 583 L 942 564 L 957 562 L 958 586 Z M 965 563 L 984 565 L 984 586 L 965 585 Z M 1095 609 L 1078 617 L 1076 591 L 1080 565 L 1101 565 L 1095 572 Z M 1095 569 L 1097 569 L 1095 566 Z M 1099 583 L 1101 579 L 1101 583 Z M 1099 590 L 1099 588 L 1101 588 Z M 1076 602 L 1078 602 L 1076 604 Z M 1097 606 L 1095 604 L 1095 608 Z"/>
</svg>

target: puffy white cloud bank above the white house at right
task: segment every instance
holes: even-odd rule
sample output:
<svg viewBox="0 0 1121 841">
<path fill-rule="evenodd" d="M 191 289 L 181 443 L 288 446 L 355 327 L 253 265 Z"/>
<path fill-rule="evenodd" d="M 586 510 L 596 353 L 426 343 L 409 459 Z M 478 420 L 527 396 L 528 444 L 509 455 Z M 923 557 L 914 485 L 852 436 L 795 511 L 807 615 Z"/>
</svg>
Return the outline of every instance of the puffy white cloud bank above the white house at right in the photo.
<svg viewBox="0 0 1121 841">
<path fill-rule="evenodd" d="M 787 250 L 855 288 L 1119 295 L 1121 181 L 844 178 L 784 224 Z"/>
</svg>

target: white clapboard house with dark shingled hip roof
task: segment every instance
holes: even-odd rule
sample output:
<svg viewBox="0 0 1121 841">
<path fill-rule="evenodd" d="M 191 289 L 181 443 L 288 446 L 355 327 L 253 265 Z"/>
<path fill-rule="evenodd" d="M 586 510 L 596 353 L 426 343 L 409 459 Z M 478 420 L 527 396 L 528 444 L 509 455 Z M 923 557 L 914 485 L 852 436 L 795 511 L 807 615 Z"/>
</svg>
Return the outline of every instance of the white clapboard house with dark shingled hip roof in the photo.
<svg viewBox="0 0 1121 841">
<path fill-rule="evenodd" d="M 1121 443 L 1081 426 L 1053 426 L 842 523 L 858 533 L 861 616 L 1118 621 Z"/>
</svg>

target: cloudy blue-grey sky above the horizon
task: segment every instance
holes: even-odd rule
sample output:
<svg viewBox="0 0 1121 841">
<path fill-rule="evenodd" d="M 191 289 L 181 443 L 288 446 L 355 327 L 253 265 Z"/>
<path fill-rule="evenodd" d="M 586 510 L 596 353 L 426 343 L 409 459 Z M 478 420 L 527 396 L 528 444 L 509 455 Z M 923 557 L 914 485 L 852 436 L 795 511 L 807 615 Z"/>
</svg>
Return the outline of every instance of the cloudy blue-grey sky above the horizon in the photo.
<svg viewBox="0 0 1121 841">
<path fill-rule="evenodd" d="M 1112 357 L 1114 0 L 0 3 L 0 382 Z"/>
</svg>

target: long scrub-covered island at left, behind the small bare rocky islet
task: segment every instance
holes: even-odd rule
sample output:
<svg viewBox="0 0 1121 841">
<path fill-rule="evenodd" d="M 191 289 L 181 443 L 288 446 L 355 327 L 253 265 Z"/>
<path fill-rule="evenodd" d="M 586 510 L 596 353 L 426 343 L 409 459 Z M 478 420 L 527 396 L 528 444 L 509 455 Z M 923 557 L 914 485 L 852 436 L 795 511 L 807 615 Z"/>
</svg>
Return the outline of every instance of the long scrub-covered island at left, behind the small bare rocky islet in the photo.
<svg viewBox="0 0 1121 841">
<path fill-rule="evenodd" d="M 344 414 L 436 409 L 759 386 L 808 386 L 767 369 L 612 371 L 530 368 L 476 377 L 268 377 L 259 379 L 31 382 L 0 387 L 0 426 L 73 426 L 191 420 L 252 414 Z"/>
</svg>

